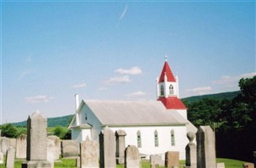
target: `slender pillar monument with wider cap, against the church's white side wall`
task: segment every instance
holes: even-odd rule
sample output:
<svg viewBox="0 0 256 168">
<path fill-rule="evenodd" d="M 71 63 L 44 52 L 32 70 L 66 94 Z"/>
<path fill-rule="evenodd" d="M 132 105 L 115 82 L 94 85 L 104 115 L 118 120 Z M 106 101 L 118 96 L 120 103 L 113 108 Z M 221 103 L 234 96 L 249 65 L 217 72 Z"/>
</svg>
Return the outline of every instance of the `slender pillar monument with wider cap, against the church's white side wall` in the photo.
<svg viewBox="0 0 256 168">
<path fill-rule="evenodd" d="M 115 131 L 116 157 L 118 164 L 125 163 L 125 135 L 126 133 L 124 130 L 119 129 L 118 131 Z"/>
</svg>

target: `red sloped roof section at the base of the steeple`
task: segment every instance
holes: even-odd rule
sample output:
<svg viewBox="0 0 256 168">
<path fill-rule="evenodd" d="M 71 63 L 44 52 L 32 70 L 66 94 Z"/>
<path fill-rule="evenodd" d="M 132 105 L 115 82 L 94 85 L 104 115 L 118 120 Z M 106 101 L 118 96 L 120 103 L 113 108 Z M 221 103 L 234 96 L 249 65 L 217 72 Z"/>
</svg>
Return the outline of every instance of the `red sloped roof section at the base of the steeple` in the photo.
<svg viewBox="0 0 256 168">
<path fill-rule="evenodd" d="M 158 101 L 163 102 L 167 109 L 187 109 L 178 97 L 159 97 Z"/>
</svg>

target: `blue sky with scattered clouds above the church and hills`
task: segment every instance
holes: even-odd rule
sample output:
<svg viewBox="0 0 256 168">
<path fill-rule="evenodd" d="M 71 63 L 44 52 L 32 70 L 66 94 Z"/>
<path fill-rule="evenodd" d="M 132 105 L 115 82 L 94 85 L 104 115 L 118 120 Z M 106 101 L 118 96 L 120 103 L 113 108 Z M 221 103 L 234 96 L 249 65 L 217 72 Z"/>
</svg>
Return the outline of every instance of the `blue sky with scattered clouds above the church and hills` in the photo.
<svg viewBox="0 0 256 168">
<path fill-rule="evenodd" d="M 256 73 L 254 1 L 1 1 L 1 123 L 90 100 L 156 100 L 165 55 L 179 96 Z"/>
</svg>

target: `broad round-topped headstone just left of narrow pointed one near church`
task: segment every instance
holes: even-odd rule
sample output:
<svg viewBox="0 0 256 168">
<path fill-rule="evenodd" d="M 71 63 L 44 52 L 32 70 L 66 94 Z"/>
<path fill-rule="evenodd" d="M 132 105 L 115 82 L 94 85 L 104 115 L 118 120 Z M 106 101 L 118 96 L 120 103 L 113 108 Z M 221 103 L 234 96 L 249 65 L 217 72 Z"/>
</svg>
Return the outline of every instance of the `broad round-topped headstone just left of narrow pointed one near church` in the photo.
<svg viewBox="0 0 256 168">
<path fill-rule="evenodd" d="M 86 139 L 80 144 L 80 167 L 99 167 L 97 155 L 98 143 L 94 140 Z"/>
</svg>

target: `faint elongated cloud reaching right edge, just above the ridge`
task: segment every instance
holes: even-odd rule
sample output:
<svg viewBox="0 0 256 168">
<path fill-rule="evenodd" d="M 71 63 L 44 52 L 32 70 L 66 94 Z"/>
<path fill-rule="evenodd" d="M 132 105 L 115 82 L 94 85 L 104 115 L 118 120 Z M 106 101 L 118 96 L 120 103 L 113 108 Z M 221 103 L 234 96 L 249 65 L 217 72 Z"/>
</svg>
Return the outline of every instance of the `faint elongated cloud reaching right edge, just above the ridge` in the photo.
<svg viewBox="0 0 256 168">
<path fill-rule="evenodd" d="M 249 78 L 256 76 L 256 72 L 246 73 L 239 76 L 221 76 L 220 80 L 212 81 L 213 84 L 229 86 L 237 86 L 238 81 L 241 78 Z"/>
</svg>

